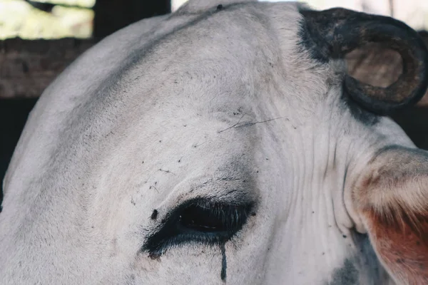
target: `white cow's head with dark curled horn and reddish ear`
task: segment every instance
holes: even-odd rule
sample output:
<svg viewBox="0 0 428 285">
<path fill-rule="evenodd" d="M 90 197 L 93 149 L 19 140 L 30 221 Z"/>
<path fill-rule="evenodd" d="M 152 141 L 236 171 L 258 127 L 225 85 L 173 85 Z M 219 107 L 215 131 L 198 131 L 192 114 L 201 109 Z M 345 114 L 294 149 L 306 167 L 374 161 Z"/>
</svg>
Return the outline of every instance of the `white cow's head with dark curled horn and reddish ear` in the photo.
<svg viewBox="0 0 428 285">
<path fill-rule="evenodd" d="M 347 74 L 381 43 L 386 87 Z M 428 153 L 389 114 L 417 32 L 295 2 L 190 0 L 86 51 L 4 178 L 0 284 L 427 284 Z"/>
</svg>

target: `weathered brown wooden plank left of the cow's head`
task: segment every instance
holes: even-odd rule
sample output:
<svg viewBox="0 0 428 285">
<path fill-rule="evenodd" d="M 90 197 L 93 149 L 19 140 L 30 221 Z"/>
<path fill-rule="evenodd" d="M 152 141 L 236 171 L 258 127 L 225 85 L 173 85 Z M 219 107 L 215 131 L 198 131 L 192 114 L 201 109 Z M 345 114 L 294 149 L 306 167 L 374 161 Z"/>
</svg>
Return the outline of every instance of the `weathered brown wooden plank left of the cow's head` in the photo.
<svg viewBox="0 0 428 285">
<path fill-rule="evenodd" d="M 36 98 L 94 40 L 0 41 L 0 98 Z"/>
</svg>

